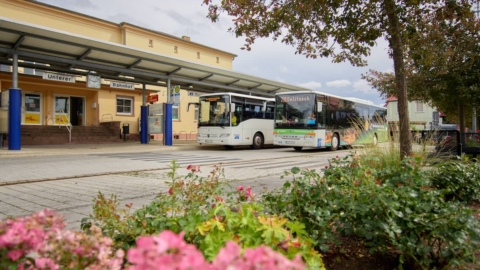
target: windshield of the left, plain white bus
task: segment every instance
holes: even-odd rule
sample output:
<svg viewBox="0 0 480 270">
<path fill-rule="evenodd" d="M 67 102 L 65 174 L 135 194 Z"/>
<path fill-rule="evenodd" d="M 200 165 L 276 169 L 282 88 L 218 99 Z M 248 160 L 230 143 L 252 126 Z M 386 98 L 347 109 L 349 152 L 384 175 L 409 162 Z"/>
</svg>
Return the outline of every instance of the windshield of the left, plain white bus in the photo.
<svg viewBox="0 0 480 270">
<path fill-rule="evenodd" d="M 230 126 L 229 104 L 229 95 L 200 97 L 198 126 Z"/>
</svg>

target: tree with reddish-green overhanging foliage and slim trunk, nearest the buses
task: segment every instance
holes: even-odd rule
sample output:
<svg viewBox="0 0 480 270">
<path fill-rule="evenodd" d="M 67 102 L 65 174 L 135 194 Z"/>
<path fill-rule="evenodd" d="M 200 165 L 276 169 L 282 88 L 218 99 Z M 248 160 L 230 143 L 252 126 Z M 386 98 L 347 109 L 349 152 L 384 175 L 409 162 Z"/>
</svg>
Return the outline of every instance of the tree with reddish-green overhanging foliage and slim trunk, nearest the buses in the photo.
<svg viewBox="0 0 480 270">
<path fill-rule="evenodd" d="M 256 38 L 272 37 L 296 46 L 306 57 L 332 57 L 333 62 L 349 61 L 366 65 L 378 38 L 389 41 L 395 70 L 396 96 L 400 118 L 400 154 L 411 153 L 407 88 L 404 65 L 404 39 L 407 26 L 436 6 L 449 0 L 204 0 L 208 17 L 233 16 L 237 37 L 245 36 L 250 50 Z"/>
</svg>

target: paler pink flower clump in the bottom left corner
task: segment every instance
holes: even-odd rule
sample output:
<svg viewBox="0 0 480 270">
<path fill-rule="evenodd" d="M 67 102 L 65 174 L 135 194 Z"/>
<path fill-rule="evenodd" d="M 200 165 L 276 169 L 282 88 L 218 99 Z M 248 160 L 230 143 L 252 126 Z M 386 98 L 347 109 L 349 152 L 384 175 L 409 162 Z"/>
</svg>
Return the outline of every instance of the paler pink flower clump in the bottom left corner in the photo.
<svg viewBox="0 0 480 270">
<path fill-rule="evenodd" d="M 91 234 L 64 230 L 51 210 L 0 221 L 1 269 L 120 269 L 123 251 L 93 226 Z"/>
</svg>

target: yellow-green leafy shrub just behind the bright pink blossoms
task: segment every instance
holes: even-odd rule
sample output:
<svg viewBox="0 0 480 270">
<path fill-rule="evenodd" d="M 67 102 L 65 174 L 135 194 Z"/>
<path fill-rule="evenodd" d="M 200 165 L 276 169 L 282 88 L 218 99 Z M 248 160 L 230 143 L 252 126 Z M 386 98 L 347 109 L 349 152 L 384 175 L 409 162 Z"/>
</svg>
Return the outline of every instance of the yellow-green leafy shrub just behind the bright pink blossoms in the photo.
<svg viewBox="0 0 480 270">
<path fill-rule="evenodd" d="M 208 260 L 213 260 L 228 241 L 235 241 L 242 248 L 266 245 L 289 259 L 300 254 L 309 269 L 325 269 L 321 255 L 306 235 L 305 225 L 262 214 L 262 206 L 257 203 L 246 202 L 233 209 L 220 203 L 197 229 L 205 236 L 200 250 Z"/>
</svg>

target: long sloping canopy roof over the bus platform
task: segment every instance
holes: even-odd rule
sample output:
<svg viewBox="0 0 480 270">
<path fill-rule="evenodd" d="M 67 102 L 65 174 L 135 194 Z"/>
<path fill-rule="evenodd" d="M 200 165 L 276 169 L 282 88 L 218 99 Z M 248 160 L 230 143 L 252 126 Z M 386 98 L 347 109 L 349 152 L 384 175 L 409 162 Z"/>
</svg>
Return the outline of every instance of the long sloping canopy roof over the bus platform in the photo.
<svg viewBox="0 0 480 270">
<path fill-rule="evenodd" d="M 73 73 L 72 67 L 95 71 L 107 79 L 165 86 L 168 80 L 182 89 L 200 92 L 230 91 L 274 96 L 277 92 L 309 90 L 232 70 L 199 64 L 147 50 L 102 41 L 0 17 L 0 64 L 11 65 L 11 55 L 41 70 Z M 77 72 L 78 73 L 78 72 Z M 125 78 L 129 76 L 131 78 Z"/>
</svg>

